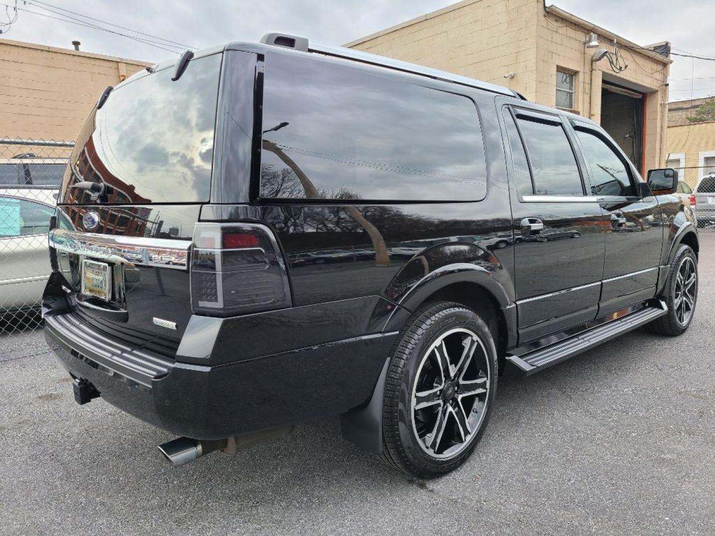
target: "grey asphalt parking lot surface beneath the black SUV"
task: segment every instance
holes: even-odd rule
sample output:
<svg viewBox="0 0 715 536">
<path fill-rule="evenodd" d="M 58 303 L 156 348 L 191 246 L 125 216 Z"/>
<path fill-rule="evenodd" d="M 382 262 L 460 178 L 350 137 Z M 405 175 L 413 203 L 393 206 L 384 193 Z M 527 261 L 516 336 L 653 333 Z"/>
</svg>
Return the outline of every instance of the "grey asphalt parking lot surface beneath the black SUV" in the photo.
<svg viewBox="0 0 715 536">
<path fill-rule="evenodd" d="M 172 438 L 74 403 L 40 331 L 0 339 L 0 534 L 715 534 L 715 232 L 678 338 L 644 329 L 528 379 L 501 379 L 456 472 L 419 481 L 337 418 L 173 468 Z"/>
</svg>

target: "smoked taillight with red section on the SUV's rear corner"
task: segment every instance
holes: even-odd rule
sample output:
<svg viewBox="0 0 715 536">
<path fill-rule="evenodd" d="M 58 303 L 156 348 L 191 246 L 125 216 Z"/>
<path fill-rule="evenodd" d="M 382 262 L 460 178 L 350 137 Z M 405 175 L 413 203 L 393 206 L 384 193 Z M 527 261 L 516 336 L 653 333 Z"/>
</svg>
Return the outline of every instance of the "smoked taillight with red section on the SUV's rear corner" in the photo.
<svg viewBox="0 0 715 536">
<path fill-rule="evenodd" d="M 240 314 L 290 307 L 285 262 L 260 224 L 194 227 L 191 304 L 195 312 Z"/>
</svg>

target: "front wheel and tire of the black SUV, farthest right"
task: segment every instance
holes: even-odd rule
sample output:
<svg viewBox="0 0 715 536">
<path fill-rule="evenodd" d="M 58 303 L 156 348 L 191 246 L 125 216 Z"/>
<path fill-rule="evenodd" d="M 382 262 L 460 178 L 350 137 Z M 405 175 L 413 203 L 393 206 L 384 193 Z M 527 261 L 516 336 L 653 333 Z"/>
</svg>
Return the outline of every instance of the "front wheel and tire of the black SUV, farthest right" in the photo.
<svg viewBox="0 0 715 536">
<path fill-rule="evenodd" d="M 691 274 L 692 279 L 687 274 Z M 646 327 L 653 333 L 670 337 L 684 333 L 693 320 L 698 301 L 698 258 L 690 246 L 678 248 L 668 270 L 663 299 L 668 305 L 668 314 Z"/>
</svg>

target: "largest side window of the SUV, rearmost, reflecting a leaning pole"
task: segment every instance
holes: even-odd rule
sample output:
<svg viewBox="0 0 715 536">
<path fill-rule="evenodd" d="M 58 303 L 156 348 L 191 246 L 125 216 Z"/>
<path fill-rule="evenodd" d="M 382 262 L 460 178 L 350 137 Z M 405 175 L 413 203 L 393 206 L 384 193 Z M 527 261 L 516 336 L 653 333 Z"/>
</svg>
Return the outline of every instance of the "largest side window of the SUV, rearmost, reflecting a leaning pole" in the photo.
<svg viewBox="0 0 715 536">
<path fill-rule="evenodd" d="M 374 69 L 269 56 L 261 196 L 476 200 L 486 194 L 477 109 Z"/>
</svg>

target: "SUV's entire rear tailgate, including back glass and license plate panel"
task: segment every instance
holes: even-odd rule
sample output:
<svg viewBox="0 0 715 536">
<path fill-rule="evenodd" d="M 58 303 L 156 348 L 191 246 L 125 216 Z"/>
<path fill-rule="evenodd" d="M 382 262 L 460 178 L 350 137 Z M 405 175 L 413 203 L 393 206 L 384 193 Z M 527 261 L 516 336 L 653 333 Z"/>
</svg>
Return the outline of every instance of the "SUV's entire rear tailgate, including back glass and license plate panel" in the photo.
<svg viewBox="0 0 715 536">
<path fill-rule="evenodd" d="M 178 348 L 192 314 L 194 224 L 211 189 L 221 64 L 210 51 L 176 80 L 172 65 L 134 74 L 79 134 L 50 246 L 74 320 L 98 337 L 171 357 Z"/>
</svg>

